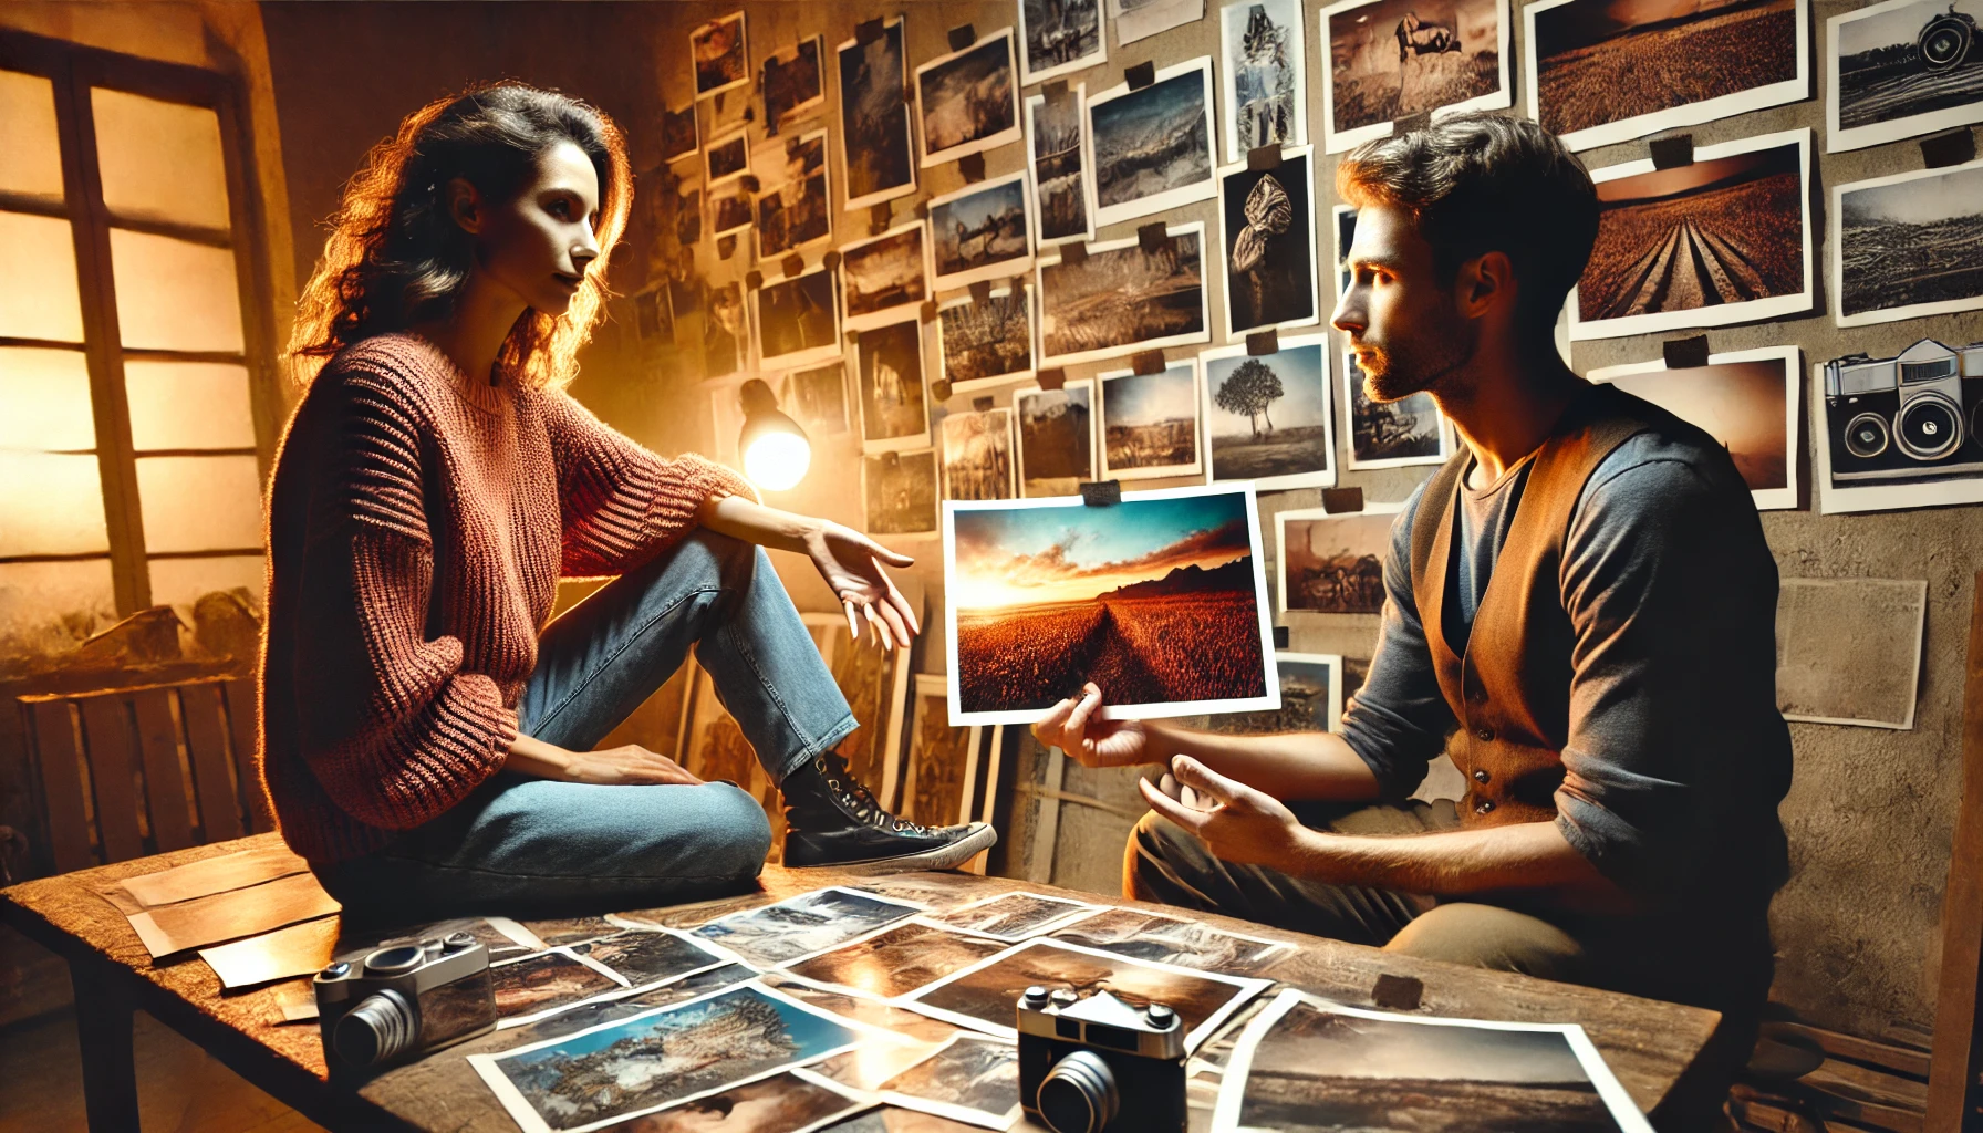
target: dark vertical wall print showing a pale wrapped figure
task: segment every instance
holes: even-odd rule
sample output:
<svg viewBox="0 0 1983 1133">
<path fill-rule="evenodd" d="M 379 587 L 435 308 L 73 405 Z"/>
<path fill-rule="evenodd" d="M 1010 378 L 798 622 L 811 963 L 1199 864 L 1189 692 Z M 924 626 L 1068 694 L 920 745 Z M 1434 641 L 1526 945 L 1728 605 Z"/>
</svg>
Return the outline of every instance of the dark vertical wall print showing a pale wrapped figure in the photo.
<svg viewBox="0 0 1983 1133">
<path fill-rule="evenodd" d="M 1227 339 L 1321 321 L 1313 173 L 1309 147 L 1283 149 L 1273 169 L 1220 171 Z"/>
</svg>

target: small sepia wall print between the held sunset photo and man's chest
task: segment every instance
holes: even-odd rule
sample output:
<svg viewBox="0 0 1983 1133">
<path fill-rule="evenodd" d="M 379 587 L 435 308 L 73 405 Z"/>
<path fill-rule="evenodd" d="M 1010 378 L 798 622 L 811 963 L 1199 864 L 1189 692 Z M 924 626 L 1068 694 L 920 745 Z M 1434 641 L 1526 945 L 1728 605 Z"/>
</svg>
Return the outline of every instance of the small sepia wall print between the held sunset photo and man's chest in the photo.
<svg viewBox="0 0 1983 1133">
<path fill-rule="evenodd" d="M 1384 609 L 1384 552 L 1404 504 L 1364 502 L 1362 512 L 1295 508 L 1275 512 L 1281 548 L 1275 589 L 1281 613 L 1378 613 Z"/>
</svg>

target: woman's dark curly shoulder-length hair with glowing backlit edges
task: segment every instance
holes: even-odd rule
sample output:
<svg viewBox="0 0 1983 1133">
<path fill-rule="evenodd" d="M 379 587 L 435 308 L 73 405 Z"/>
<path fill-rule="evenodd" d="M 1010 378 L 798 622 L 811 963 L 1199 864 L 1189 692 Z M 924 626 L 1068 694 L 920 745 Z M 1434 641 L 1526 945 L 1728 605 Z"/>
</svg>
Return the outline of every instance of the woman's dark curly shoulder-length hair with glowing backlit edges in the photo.
<svg viewBox="0 0 1983 1133">
<path fill-rule="evenodd" d="M 597 107 L 518 81 L 484 83 L 436 99 L 399 123 L 365 157 L 331 218 L 323 258 L 297 300 L 290 377 L 309 385 L 339 349 L 379 333 L 444 319 L 474 266 L 474 236 L 448 210 L 448 183 L 466 179 L 486 198 L 522 192 L 557 143 L 585 151 L 599 175 L 599 248 L 611 254 L 633 204 L 627 139 Z M 531 389 L 577 377 L 579 347 L 609 296 L 607 256 L 561 315 L 525 310 L 496 357 L 498 373 Z"/>
</svg>

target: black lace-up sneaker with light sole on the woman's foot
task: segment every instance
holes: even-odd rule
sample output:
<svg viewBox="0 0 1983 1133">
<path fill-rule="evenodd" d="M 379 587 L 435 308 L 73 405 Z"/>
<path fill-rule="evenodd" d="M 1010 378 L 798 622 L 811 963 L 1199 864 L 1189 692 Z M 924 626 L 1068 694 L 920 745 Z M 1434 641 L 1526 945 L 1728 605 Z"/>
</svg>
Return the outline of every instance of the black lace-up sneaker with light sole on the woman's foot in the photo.
<svg viewBox="0 0 1983 1133">
<path fill-rule="evenodd" d="M 982 821 L 932 829 L 894 818 L 831 752 L 785 776 L 779 790 L 785 794 L 787 869 L 952 869 L 997 841 L 997 831 Z"/>
</svg>

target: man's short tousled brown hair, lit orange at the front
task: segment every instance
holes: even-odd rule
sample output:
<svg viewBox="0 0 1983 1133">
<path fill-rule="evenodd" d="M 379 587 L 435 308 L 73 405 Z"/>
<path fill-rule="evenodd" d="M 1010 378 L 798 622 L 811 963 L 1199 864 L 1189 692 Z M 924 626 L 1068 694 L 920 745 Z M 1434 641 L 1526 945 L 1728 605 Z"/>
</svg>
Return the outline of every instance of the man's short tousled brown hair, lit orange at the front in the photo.
<svg viewBox="0 0 1983 1133">
<path fill-rule="evenodd" d="M 1358 208 L 1410 212 L 1442 282 L 1475 256 L 1505 252 L 1529 333 L 1555 325 L 1598 234 L 1596 187 L 1576 155 L 1537 123 L 1493 113 L 1368 141 L 1342 159 L 1337 190 Z"/>
</svg>

